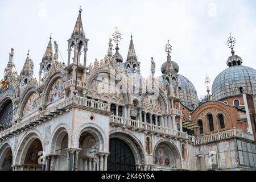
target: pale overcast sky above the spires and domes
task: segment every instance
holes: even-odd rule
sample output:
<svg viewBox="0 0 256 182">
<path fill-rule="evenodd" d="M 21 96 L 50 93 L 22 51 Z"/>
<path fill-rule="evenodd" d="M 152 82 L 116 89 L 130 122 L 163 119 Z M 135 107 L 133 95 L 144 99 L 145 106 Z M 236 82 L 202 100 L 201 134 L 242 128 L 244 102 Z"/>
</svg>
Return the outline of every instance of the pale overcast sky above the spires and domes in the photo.
<svg viewBox="0 0 256 182">
<path fill-rule="evenodd" d="M 229 33 L 236 37 L 236 54 L 243 65 L 256 68 L 256 1 L 254 0 L 108 0 L 108 1 L 18 1 L 0 0 L 0 75 L 13 47 L 18 72 L 30 49 L 38 79 L 39 63 L 46 51 L 49 36 L 59 43 L 67 63 L 67 40 L 71 37 L 82 7 L 82 23 L 89 39 L 88 64 L 104 59 L 114 27 L 123 40 L 119 52 L 126 60 L 130 34 L 141 62 L 143 76 L 150 72 L 150 58 L 156 62 L 156 75 L 167 60 L 164 46 L 170 39 L 172 60 L 180 74 L 195 85 L 199 98 L 206 94 L 208 73 L 214 78 L 228 68 L 230 49 L 226 46 Z M 59 56 L 59 60 L 61 57 Z"/>
</svg>

